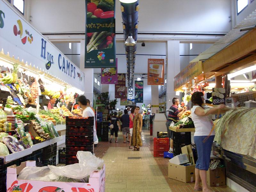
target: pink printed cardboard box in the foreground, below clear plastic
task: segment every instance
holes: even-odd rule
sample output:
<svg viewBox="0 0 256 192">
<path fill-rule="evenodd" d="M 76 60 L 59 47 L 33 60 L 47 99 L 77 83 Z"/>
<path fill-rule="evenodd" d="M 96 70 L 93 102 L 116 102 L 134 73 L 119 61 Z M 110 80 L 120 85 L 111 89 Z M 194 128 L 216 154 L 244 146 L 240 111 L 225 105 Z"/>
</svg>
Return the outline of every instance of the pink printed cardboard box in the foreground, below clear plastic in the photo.
<svg viewBox="0 0 256 192">
<path fill-rule="evenodd" d="M 105 164 L 99 172 L 93 172 L 89 183 L 68 183 L 36 180 L 19 180 L 24 167 L 35 167 L 35 161 L 22 162 L 20 166 L 7 167 L 7 192 L 105 192 Z"/>
</svg>

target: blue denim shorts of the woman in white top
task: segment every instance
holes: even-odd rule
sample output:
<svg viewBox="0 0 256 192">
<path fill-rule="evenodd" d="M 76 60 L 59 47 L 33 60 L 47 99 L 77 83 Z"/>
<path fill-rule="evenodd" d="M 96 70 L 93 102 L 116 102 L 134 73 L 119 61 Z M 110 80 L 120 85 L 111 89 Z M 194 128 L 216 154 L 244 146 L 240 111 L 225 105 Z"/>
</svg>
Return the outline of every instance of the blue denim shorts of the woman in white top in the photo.
<svg viewBox="0 0 256 192">
<path fill-rule="evenodd" d="M 214 135 L 211 135 L 205 142 L 203 142 L 204 138 L 206 137 L 207 136 L 194 136 L 198 156 L 196 161 L 196 168 L 205 171 L 207 171 L 210 166 L 210 157 Z"/>
</svg>

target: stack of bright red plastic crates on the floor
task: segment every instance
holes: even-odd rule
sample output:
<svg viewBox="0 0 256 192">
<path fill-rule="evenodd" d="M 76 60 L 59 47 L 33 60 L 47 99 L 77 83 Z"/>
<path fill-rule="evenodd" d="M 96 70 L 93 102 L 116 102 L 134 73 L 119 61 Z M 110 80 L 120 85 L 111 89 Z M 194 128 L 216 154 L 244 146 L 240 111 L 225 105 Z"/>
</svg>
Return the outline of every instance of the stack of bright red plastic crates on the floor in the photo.
<svg viewBox="0 0 256 192">
<path fill-rule="evenodd" d="M 164 157 L 169 150 L 169 138 L 154 138 L 154 157 Z"/>
</svg>

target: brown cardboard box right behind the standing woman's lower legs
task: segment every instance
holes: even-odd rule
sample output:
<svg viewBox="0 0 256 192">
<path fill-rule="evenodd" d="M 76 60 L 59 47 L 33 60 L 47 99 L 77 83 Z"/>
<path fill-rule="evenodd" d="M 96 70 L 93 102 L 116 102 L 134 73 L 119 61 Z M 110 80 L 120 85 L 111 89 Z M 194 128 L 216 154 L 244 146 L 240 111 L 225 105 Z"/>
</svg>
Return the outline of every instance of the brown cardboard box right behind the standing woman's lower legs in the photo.
<svg viewBox="0 0 256 192">
<path fill-rule="evenodd" d="M 214 170 L 208 170 L 206 172 L 207 185 L 209 186 L 222 186 L 226 185 L 225 167 L 217 167 Z"/>
</svg>

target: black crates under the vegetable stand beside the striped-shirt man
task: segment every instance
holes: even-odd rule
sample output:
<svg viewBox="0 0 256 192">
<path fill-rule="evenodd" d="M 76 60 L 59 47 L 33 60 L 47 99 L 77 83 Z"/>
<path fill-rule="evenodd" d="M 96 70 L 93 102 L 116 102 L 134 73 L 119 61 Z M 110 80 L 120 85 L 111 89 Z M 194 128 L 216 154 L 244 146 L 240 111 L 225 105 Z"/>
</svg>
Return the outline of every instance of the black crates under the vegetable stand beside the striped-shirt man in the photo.
<svg viewBox="0 0 256 192">
<path fill-rule="evenodd" d="M 173 154 L 180 155 L 181 148 L 191 144 L 191 132 L 173 132 Z"/>
</svg>

